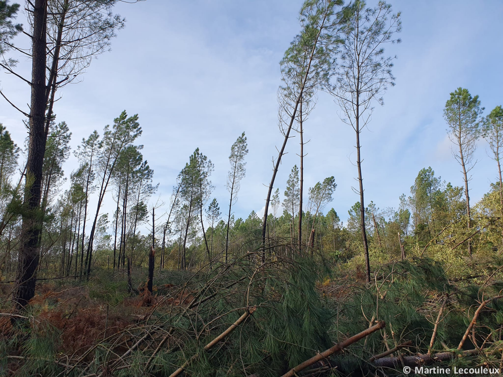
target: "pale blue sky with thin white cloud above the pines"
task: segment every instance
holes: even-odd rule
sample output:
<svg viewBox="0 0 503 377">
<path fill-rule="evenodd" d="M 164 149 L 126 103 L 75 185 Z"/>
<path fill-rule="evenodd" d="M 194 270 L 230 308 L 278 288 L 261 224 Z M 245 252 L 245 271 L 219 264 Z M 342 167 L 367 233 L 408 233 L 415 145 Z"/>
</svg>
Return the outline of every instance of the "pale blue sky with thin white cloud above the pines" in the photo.
<svg viewBox="0 0 503 377">
<path fill-rule="evenodd" d="M 376 1 L 369 1 L 370 6 Z M 115 13 L 126 18 L 112 51 L 94 59 L 81 82 L 61 89 L 55 105 L 56 120 L 72 132 L 71 146 L 103 127 L 126 110 L 138 114 L 143 134 L 139 143 L 154 170 L 157 194 L 169 203 L 176 177 L 199 147 L 215 165 L 212 197 L 228 211 L 225 187 L 230 147 L 244 131 L 249 153 L 241 181 L 236 218 L 264 211 L 272 158 L 283 136 L 277 118 L 277 88 L 284 51 L 299 32 L 299 0 L 146 0 L 119 3 Z M 397 207 L 401 194 L 423 167 L 454 185 L 463 184 L 460 166 L 451 155 L 443 108 L 449 93 L 468 88 L 480 96 L 485 114 L 503 105 L 501 62 L 503 3 L 493 1 L 411 2 L 393 0 L 401 12 L 402 43 L 386 46 L 394 56 L 396 85 L 376 104 L 368 129 L 361 135 L 363 184 L 366 202 Z M 24 16 L 19 16 L 23 22 Z M 18 45 L 26 38 L 17 37 Z M 30 64 L 20 60 L 19 70 L 29 76 Z M 0 73 L 0 87 L 10 100 L 26 110 L 29 87 L 13 75 Z M 354 131 L 339 118 L 339 107 L 324 92 L 304 123 L 304 187 L 333 175 L 337 190 L 327 209 L 341 219 L 359 197 L 352 190 L 356 150 Z M 0 99 L 0 123 L 18 145 L 27 135 L 23 116 Z M 291 138 L 276 177 L 283 194 L 288 174 L 299 164 L 299 137 Z M 485 141 L 479 140 L 478 161 L 470 181 L 476 202 L 497 175 Z M 73 156 L 64 170 L 78 163 Z M 111 199 L 111 194 L 109 199 Z M 307 196 L 307 195 L 306 195 Z M 110 204 L 111 201 L 109 201 Z M 110 212 L 112 212 L 112 207 Z M 107 209 L 106 209 L 107 210 Z M 326 212 L 326 211 L 325 211 Z"/>
</svg>

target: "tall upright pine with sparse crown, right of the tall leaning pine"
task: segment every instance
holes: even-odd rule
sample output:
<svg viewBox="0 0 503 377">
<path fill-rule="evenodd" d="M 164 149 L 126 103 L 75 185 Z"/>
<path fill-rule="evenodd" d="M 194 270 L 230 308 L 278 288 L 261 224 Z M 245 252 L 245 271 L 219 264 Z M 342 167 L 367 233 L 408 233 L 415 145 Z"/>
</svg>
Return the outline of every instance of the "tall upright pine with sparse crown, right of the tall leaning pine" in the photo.
<svg viewBox="0 0 503 377">
<path fill-rule="evenodd" d="M 401 22 L 400 13 L 391 13 L 391 5 L 379 2 L 376 8 L 368 8 L 360 0 L 345 8 L 343 20 L 345 41 L 337 55 L 337 80 L 330 91 L 341 107 L 342 120 L 356 133 L 359 186 L 354 190 L 360 196 L 360 225 L 367 282 L 370 282 L 360 134 L 371 119 L 374 102 L 383 105 L 383 99 L 379 96 L 388 85 L 394 85 L 395 78 L 391 74 L 394 57 L 383 57 L 384 44 L 400 42 L 392 37 L 400 32 Z"/>
</svg>

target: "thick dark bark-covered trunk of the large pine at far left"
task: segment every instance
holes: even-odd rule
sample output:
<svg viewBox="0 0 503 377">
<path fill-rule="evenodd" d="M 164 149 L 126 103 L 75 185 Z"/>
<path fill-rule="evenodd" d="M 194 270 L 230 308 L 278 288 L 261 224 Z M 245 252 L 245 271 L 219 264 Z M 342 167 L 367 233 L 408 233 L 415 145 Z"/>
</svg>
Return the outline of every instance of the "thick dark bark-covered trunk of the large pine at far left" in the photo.
<svg viewBox="0 0 503 377">
<path fill-rule="evenodd" d="M 17 284 L 13 297 L 17 309 L 24 308 L 35 295 L 37 266 L 40 259 L 42 166 L 47 141 L 45 134 L 47 1 L 35 0 L 34 3 L 30 136 L 26 164 L 27 184 L 25 187 L 25 205 L 27 208 L 22 215 L 21 247 L 16 274 Z"/>
</svg>

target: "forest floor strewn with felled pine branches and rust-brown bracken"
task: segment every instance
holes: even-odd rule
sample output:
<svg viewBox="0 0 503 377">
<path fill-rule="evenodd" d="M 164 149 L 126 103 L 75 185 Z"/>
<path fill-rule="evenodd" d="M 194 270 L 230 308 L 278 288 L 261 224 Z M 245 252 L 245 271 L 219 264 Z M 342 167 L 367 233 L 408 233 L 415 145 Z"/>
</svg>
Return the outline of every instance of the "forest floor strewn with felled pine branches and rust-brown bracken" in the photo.
<svg viewBox="0 0 503 377">
<path fill-rule="evenodd" d="M 383 265 L 370 285 L 305 259 L 156 270 L 153 295 L 146 273 L 133 270 L 134 292 L 107 269 L 40 281 L 17 317 L 0 285 L 0 374 L 400 375 L 503 360 L 503 282 L 453 282 L 427 258 Z"/>
</svg>

